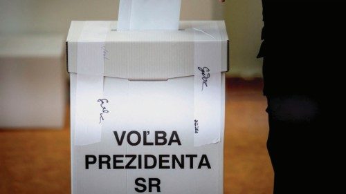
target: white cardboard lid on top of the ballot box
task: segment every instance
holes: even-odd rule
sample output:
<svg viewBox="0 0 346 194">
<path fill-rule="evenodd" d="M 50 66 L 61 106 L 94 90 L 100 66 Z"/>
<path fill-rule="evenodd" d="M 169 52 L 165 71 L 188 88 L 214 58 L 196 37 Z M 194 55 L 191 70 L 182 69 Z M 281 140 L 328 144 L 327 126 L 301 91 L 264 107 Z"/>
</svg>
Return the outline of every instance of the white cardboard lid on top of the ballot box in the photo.
<svg viewBox="0 0 346 194">
<path fill-rule="evenodd" d="M 98 38 L 100 23 L 107 23 L 109 28 L 105 39 Z M 88 28 L 84 28 L 86 24 Z M 229 44 L 224 21 L 181 21 L 180 30 L 115 30 L 116 24 L 117 21 L 72 21 L 66 41 L 68 71 L 79 73 L 78 46 L 93 43 L 104 43 L 107 49 L 103 64 L 103 75 L 107 77 L 164 80 L 194 75 L 198 60 L 194 50 L 203 43 L 220 45 L 221 64 L 211 65 L 221 66 L 221 72 L 228 71 Z M 81 36 L 86 29 L 89 38 Z"/>
</svg>

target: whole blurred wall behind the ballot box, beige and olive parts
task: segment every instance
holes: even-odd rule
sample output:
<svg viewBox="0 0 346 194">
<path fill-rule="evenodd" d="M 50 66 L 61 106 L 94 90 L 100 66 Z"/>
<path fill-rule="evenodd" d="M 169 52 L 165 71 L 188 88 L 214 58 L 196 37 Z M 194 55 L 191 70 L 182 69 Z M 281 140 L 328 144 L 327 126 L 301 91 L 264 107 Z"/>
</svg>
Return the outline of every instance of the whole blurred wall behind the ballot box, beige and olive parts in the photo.
<svg viewBox="0 0 346 194">
<path fill-rule="evenodd" d="M 119 0 L 0 0 L 0 35 L 61 34 L 71 20 L 116 20 Z M 231 41 L 228 76 L 261 77 L 260 0 L 182 0 L 181 20 L 226 20 Z"/>
</svg>

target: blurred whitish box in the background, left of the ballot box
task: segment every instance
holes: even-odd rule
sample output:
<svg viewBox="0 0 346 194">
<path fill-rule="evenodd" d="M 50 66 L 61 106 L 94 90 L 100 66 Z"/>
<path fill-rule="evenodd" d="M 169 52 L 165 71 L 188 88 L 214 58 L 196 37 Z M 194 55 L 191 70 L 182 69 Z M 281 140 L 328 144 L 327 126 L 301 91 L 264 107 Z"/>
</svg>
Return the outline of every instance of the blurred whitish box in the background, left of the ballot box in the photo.
<svg viewBox="0 0 346 194">
<path fill-rule="evenodd" d="M 62 128 L 64 37 L 0 36 L 0 128 Z"/>
</svg>

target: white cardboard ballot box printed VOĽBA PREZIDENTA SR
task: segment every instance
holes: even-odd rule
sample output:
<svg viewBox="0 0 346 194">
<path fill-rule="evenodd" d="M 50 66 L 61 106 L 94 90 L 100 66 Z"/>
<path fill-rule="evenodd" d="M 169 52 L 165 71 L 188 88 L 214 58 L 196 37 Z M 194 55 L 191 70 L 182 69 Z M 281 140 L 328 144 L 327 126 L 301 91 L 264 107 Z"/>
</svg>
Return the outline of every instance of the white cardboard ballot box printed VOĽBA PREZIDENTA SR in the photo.
<svg viewBox="0 0 346 194">
<path fill-rule="evenodd" d="M 224 193 L 224 21 L 112 29 L 73 21 L 66 42 L 72 193 Z"/>
</svg>

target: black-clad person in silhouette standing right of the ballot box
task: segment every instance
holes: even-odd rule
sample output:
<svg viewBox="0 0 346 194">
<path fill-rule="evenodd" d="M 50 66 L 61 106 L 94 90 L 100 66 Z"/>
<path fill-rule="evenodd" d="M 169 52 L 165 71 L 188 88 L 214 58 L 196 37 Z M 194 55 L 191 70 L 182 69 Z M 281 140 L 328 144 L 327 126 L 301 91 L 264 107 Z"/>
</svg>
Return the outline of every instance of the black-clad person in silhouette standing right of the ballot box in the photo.
<svg viewBox="0 0 346 194">
<path fill-rule="evenodd" d="M 275 194 L 334 193 L 341 185 L 331 174 L 338 171 L 334 126 L 341 121 L 333 110 L 341 106 L 334 77 L 346 55 L 341 2 L 262 0 L 258 57 L 264 57 Z"/>
</svg>

